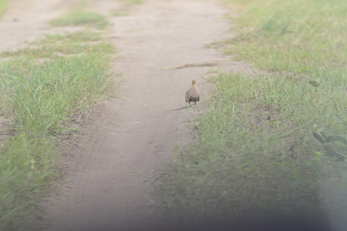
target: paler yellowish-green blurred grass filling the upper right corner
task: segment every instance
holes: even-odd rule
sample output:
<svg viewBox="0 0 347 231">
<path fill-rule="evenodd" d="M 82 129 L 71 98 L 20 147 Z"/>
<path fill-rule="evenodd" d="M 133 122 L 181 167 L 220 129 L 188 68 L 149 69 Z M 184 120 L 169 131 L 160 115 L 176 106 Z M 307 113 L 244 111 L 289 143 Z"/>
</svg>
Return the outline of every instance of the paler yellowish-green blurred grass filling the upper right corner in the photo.
<svg viewBox="0 0 347 231">
<path fill-rule="evenodd" d="M 246 2 L 233 19 L 240 33 L 225 41 L 226 54 L 270 71 L 344 73 L 346 1 Z"/>
</svg>

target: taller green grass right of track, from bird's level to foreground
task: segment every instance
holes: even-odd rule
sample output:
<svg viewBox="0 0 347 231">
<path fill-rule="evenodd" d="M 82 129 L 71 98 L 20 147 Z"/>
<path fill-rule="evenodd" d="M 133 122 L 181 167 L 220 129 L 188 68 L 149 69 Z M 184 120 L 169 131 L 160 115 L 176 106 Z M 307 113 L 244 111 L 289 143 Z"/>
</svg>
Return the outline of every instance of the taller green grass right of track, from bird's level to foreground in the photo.
<svg viewBox="0 0 347 231">
<path fill-rule="evenodd" d="M 157 185 L 163 214 L 180 222 L 275 216 L 344 222 L 345 187 L 331 182 L 346 182 L 347 165 L 319 154 L 312 132 L 320 124 L 345 134 L 346 87 L 324 82 L 318 99 L 305 80 L 281 75 L 221 73 L 211 81 L 216 90 L 195 142 Z"/>
</svg>

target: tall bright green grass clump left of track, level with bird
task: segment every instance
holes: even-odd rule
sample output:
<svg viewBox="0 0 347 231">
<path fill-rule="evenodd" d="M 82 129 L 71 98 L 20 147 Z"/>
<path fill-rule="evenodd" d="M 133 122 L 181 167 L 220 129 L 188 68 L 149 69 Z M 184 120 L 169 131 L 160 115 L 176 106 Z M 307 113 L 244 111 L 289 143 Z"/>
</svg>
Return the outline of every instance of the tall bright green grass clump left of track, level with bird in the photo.
<svg viewBox="0 0 347 231">
<path fill-rule="evenodd" d="M 28 76 L 10 75 L 17 87 L 8 101 L 15 112 L 8 113 L 15 115 L 16 127 L 35 134 L 60 133 L 66 115 L 81 112 L 107 91 L 106 64 L 107 58 L 79 55 L 29 66 Z"/>
</svg>

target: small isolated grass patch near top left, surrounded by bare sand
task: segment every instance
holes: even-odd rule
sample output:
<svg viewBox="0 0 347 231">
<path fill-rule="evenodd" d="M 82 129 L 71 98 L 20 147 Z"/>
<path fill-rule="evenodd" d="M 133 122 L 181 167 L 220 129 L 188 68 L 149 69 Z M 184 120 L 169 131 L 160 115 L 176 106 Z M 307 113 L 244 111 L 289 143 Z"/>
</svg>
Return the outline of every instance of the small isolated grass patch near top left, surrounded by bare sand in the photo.
<svg viewBox="0 0 347 231">
<path fill-rule="evenodd" d="M 104 15 L 93 11 L 71 11 L 50 21 L 52 26 L 93 26 L 97 29 L 104 29 L 108 23 Z"/>
</svg>

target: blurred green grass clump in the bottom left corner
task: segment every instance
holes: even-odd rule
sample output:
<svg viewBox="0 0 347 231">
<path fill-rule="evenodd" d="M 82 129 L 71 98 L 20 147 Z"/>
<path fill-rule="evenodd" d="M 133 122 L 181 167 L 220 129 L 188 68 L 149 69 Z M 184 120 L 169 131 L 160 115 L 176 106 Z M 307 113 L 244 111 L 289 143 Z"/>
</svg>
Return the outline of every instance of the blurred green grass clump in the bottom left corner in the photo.
<svg viewBox="0 0 347 231">
<path fill-rule="evenodd" d="M 50 142 L 23 132 L 3 143 L 0 156 L 1 230 L 19 230 L 25 224 L 37 196 L 57 176 L 52 164 L 57 154 Z"/>
</svg>

